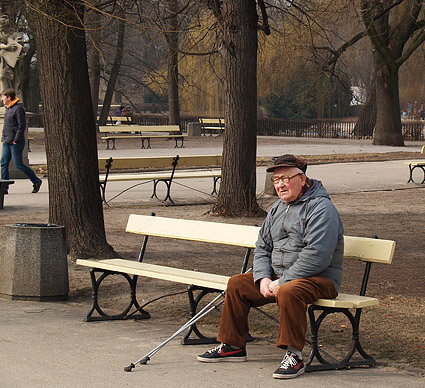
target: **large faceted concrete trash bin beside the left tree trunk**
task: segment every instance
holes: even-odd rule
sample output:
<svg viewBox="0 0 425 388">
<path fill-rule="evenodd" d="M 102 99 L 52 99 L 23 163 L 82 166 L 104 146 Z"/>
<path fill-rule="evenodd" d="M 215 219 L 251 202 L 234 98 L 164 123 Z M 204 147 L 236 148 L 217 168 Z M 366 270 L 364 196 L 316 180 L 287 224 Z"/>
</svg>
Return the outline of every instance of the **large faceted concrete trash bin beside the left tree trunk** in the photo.
<svg viewBox="0 0 425 388">
<path fill-rule="evenodd" d="M 66 300 L 69 292 L 65 227 L 5 225 L 0 249 L 0 296 Z"/>
</svg>

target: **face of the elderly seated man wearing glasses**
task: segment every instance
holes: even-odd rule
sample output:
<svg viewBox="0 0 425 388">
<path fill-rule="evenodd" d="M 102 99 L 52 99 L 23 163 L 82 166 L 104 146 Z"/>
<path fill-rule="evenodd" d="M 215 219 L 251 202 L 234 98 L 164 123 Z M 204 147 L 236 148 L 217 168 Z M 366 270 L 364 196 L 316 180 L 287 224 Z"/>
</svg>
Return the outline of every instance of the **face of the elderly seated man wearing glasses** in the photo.
<svg viewBox="0 0 425 388">
<path fill-rule="evenodd" d="M 282 179 L 277 179 L 279 177 L 283 178 L 283 180 L 285 180 L 285 177 L 292 178 L 289 182 L 284 183 Z M 279 198 L 286 203 L 291 203 L 300 196 L 305 185 L 306 176 L 295 167 L 278 167 L 273 171 L 273 179 L 276 181 L 273 184 Z"/>
</svg>

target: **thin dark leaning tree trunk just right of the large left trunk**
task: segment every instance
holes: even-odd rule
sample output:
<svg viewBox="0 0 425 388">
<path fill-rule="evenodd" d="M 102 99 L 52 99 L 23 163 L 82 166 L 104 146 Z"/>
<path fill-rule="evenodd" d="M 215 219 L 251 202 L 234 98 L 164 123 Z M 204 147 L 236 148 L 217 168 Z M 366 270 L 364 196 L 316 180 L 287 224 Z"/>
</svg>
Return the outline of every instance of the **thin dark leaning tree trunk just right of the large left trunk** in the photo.
<svg viewBox="0 0 425 388">
<path fill-rule="evenodd" d="M 120 20 L 118 22 L 118 38 L 117 38 L 117 49 L 115 52 L 114 64 L 112 65 L 111 75 L 109 76 L 108 86 L 106 88 L 105 98 L 103 100 L 102 111 L 100 113 L 99 125 L 105 125 L 108 120 L 109 109 L 111 107 L 112 96 L 115 90 L 115 84 L 120 73 L 122 55 L 124 51 L 124 37 L 125 37 L 125 12 L 123 8 L 118 9 L 118 16 Z"/>
</svg>

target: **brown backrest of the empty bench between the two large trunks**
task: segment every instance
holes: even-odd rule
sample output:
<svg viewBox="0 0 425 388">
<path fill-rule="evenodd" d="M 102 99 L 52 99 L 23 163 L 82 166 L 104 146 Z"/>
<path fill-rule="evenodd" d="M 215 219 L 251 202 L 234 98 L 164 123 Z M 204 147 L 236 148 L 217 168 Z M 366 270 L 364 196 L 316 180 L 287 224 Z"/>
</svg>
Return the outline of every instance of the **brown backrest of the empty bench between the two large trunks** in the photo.
<svg viewBox="0 0 425 388">
<path fill-rule="evenodd" d="M 112 168 L 168 168 L 173 163 L 174 156 L 142 156 L 134 158 L 113 158 Z M 108 158 L 99 158 L 99 169 L 104 169 Z M 209 167 L 221 166 L 222 155 L 188 155 L 180 156 L 179 167 Z"/>
</svg>

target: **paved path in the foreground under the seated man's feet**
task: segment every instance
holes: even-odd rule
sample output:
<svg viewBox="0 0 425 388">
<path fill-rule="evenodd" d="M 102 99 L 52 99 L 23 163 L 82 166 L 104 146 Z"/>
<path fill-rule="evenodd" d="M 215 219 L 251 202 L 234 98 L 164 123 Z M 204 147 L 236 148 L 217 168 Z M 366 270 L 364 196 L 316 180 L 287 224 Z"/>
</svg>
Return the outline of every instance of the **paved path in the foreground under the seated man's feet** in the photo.
<svg viewBox="0 0 425 388">
<path fill-rule="evenodd" d="M 86 323 L 82 319 L 86 309 L 59 302 L 0 299 L 0 311 L 1 388 L 423 388 L 425 384 L 418 374 L 389 367 L 314 372 L 290 382 L 275 380 L 271 375 L 282 351 L 262 341 L 248 345 L 248 362 L 204 364 L 196 361 L 196 355 L 209 347 L 182 346 L 174 339 L 147 365 L 126 373 L 125 366 L 177 327 L 155 318 Z"/>
</svg>

